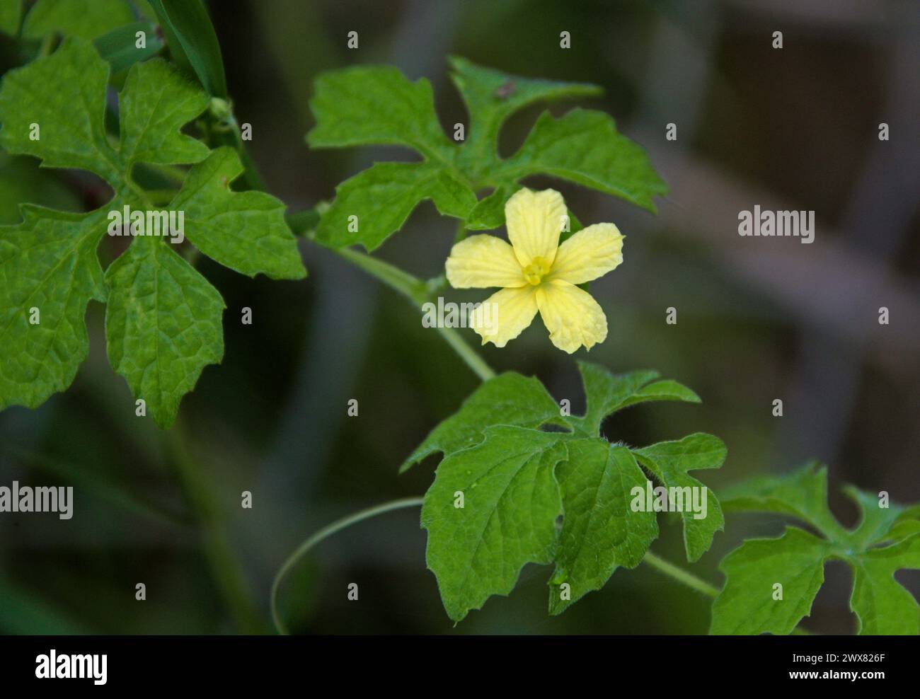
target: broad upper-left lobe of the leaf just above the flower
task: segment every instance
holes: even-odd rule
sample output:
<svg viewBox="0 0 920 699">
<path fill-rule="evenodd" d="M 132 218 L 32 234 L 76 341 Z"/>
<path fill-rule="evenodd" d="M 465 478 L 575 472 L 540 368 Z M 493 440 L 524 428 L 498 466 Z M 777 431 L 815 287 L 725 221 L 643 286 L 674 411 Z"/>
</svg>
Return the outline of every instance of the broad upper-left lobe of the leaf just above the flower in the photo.
<svg viewBox="0 0 920 699">
<path fill-rule="evenodd" d="M 434 113 L 431 83 L 410 82 L 397 68 L 356 65 L 321 74 L 310 100 L 314 148 L 370 143 L 406 145 L 431 160 L 450 163 L 454 143 Z"/>
</svg>

